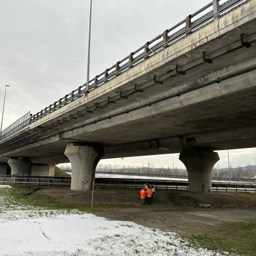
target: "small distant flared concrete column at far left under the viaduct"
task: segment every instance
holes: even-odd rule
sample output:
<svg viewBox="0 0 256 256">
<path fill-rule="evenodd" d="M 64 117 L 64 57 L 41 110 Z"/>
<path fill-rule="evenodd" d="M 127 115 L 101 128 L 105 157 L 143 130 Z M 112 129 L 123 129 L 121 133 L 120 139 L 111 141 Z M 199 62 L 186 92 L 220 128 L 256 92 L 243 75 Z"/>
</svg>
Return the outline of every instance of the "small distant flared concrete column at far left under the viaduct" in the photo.
<svg viewBox="0 0 256 256">
<path fill-rule="evenodd" d="M 30 175 L 31 161 L 29 159 L 9 158 L 11 175 Z"/>
</svg>

